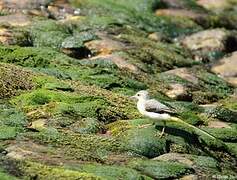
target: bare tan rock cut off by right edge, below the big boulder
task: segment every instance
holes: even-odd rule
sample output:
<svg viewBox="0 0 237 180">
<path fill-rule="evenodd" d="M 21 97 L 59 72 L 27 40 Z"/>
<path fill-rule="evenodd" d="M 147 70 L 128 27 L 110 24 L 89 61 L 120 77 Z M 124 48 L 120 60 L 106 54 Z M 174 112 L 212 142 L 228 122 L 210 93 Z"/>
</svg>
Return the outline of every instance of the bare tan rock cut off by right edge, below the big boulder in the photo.
<svg viewBox="0 0 237 180">
<path fill-rule="evenodd" d="M 237 52 L 233 52 L 229 57 L 221 59 L 212 66 L 211 70 L 237 87 Z"/>
</svg>

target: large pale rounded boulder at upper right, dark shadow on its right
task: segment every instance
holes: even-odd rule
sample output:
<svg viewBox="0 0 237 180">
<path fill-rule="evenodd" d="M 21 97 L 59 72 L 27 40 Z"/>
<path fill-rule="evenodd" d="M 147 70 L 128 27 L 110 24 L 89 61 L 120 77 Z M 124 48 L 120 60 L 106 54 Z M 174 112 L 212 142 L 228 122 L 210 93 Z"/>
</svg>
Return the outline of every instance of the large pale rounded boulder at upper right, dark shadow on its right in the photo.
<svg viewBox="0 0 237 180">
<path fill-rule="evenodd" d="M 187 36 L 181 43 L 193 51 L 199 57 L 197 59 L 213 60 L 223 56 L 225 51 L 234 51 L 228 49 L 228 43 L 235 38 L 234 34 L 224 29 L 211 29 Z"/>
</svg>

